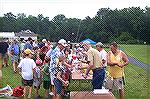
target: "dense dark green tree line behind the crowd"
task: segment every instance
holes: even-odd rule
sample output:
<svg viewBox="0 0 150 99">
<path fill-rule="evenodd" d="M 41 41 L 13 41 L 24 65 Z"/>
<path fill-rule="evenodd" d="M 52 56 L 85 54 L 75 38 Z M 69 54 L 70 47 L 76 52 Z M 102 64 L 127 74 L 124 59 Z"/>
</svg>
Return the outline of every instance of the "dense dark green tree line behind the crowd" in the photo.
<svg viewBox="0 0 150 99">
<path fill-rule="evenodd" d="M 90 38 L 96 42 L 138 44 L 150 43 L 150 7 L 129 7 L 124 9 L 101 8 L 97 14 L 85 19 L 66 18 L 56 15 L 53 19 L 38 16 L 17 15 L 11 12 L 0 17 L 1 32 L 20 32 L 31 30 L 39 39 L 58 41 L 61 38 L 71 42 L 80 42 Z"/>
</svg>

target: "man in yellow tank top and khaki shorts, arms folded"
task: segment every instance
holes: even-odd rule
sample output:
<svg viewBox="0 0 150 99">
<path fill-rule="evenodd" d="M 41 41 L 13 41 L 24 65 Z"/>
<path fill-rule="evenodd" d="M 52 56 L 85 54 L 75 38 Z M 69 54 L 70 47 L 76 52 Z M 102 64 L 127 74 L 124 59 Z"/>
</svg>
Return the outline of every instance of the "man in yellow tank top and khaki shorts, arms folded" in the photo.
<svg viewBox="0 0 150 99">
<path fill-rule="evenodd" d="M 118 44 L 113 42 L 110 44 L 110 51 L 107 55 L 107 64 L 109 65 L 108 72 L 108 88 L 110 91 L 114 87 L 119 90 L 120 99 L 124 99 L 124 67 L 128 64 L 127 55 L 119 50 Z"/>
</svg>

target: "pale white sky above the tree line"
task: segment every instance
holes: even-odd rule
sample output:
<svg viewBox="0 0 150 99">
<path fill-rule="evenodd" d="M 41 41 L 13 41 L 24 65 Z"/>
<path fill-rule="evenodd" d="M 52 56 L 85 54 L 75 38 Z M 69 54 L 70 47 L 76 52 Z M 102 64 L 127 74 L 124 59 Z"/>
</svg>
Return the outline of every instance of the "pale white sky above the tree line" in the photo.
<svg viewBox="0 0 150 99">
<path fill-rule="evenodd" d="M 14 15 L 25 13 L 26 16 L 54 18 L 63 14 L 67 18 L 84 19 L 94 17 L 100 8 L 123 9 L 129 7 L 150 7 L 150 0 L 0 0 L 0 16 L 8 12 Z"/>
</svg>

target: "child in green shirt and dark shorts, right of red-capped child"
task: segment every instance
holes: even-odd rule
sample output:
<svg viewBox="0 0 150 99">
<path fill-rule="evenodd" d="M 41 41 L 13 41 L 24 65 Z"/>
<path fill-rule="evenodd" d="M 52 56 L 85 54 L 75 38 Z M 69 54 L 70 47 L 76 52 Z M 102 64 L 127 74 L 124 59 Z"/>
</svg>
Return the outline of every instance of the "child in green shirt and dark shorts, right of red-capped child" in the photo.
<svg viewBox="0 0 150 99">
<path fill-rule="evenodd" d="M 45 89 L 45 98 L 48 99 L 48 90 L 50 88 L 50 74 L 49 74 L 49 61 L 50 58 L 46 57 L 45 58 L 45 64 L 44 64 L 44 68 L 42 69 L 43 72 L 43 88 Z"/>
</svg>

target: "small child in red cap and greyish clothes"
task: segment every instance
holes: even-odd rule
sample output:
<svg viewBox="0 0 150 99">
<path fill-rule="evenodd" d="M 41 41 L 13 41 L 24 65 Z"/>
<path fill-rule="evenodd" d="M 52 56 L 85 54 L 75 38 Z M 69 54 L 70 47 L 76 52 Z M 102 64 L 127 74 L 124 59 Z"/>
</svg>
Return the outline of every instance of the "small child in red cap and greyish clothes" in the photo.
<svg viewBox="0 0 150 99">
<path fill-rule="evenodd" d="M 36 61 L 36 67 L 34 68 L 33 71 L 33 86 L 35 88 L 35 92 L 36 92 L 36 98 L 39 98 L 39 90 L 40 90 L 40 85 L 41 85 L 41 70 L 40 70 L 40 66 L 42 65 L 42 63 L 40 61 Z"/>
</svg>

